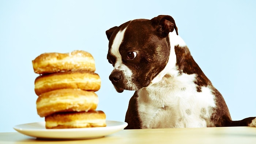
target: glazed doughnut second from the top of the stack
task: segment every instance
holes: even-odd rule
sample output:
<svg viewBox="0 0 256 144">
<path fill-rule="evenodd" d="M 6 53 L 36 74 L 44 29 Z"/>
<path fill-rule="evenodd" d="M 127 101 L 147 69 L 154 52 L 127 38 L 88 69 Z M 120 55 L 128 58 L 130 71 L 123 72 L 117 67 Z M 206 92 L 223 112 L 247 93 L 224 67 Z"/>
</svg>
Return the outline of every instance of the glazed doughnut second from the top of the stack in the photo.
<svg viewBox="0 0 256 144">
<path fill-rule="evenodd" d="M 51 73 L 38 76 L 35 79 L 35 94 L 37 95 L 63 88 L 98 91 L 100 87 L 101 79 L 99 75 L 86 71 Z"/>
</svg>

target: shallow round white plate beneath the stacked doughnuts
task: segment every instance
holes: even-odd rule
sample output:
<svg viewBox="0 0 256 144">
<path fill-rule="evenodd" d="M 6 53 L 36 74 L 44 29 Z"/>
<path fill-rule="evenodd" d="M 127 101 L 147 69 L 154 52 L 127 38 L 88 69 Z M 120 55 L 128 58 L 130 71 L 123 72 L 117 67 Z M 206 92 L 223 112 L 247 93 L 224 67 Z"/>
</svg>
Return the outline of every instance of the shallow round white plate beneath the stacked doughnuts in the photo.
<svg viewBox="0 0 256 144">
<path fill-rule="evenodd" d="M 106 127 L 46 129 L 45 122 L 15 125 L 14 129 L 27 136 L 43 139 L 93 139 L 107 136 L 124 129 L 128 124 L 119 121 L 106 121 Z"/>
</svg>

